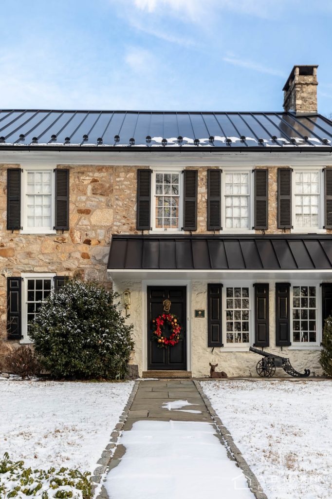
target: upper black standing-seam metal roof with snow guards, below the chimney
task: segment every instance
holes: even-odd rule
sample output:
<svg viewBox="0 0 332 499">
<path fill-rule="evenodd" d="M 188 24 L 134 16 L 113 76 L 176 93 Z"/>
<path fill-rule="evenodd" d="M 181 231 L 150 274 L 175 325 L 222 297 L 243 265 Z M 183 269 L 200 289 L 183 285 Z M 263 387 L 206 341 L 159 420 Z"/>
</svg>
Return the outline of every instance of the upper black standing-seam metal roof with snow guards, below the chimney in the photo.
<svg viewBox="0 0 332 499">
<path fill-rule="evenodd" d="M 332 122 L 292 112 L 0 110 L 0 150 L 331 150 Z"/>
</svg>

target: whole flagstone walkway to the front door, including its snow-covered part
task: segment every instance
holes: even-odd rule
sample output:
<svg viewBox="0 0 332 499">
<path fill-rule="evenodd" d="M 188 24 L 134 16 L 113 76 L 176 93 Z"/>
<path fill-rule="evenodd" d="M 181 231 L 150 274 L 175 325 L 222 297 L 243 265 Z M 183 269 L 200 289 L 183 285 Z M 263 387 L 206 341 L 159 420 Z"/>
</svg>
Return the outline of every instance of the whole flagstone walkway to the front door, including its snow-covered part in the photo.
<svg viewBox="0 0 332 499">
<path fill-rule="evenodd" d="M 192 380 L 141 381 L 100 497 L 262 498 L 221 443 Z"/>
</svg>

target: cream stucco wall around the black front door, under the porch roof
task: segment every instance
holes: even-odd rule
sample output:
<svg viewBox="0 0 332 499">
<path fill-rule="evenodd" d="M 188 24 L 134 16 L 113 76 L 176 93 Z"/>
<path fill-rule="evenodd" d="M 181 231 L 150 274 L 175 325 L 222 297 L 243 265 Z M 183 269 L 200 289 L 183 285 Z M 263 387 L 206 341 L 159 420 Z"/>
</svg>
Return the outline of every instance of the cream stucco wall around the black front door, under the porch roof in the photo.
<svg viewBox="0 0 332 499">
<path fill-rule="evenodd" d="M 210 281 L 209 281 L 210 282 Z M 172 281 L 173 284 L 173 281 Z M 156 285 L 162 285 L 156 281 Z M 134 364 L 139 367 L 139 373 L 147 369 L 146 343 L 147 343 L 147 310 L 146 300 L 144 300 L 141 281 L 116 281 L 113 288 L 122 293 L 127 287 L 130 288 L 131 309 L 128 323 L 134 324 L 133 339 L 135 341 Z M 223 348 L 207 347 L 207 281 L 193 280 L 190 283 L 191 300 L 188 313 L 190 313 L 190 333 L 187 341 L 190 340 L 190 364 L 188 368 L 192 376 L 208 376 L 210 372 L 209 362 L 218 363 L 217 370 L 225 371 L 228 376 L 253 376 L 256 377 L 256 364 L 260 356 L 251 352 L 226 352 Z M 289 357 L 293 367 L 300 372 L 304 369 L 310 369 L 317 376 L 322 375 L 322 369 L 319 364 L 320 352 L 317 350 L 290 350 L 284 347 L 276 347 L 275 333 L 275 283 L 270 282 L 270 348 L 264 348 L 265 351 L 274 352 L 278 355 Z M 253 308 L 253 307 L 251 307 Z M 204 309 L 205 318 L 195 318 L 194 310 Z M 253 312 L 251 312 L 253 313 Z M 123 314 L 125 310 L 123 309 Z M 283 369 L 277 369 L 276 375 L 287 376 Z"/>
</svg>

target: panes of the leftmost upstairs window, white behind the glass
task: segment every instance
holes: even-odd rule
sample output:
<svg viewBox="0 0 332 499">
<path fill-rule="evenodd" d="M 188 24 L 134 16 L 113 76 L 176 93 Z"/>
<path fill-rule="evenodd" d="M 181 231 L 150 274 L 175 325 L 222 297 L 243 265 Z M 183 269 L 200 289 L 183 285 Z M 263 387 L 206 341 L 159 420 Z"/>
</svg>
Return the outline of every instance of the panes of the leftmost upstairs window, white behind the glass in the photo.
<svg viewBox="0 0 332 499">
<path fill-rule="evenodd" d="M 51 228 L 51 172 L 27 172 L 26 221 L 28 228 Z"/>
</svg>

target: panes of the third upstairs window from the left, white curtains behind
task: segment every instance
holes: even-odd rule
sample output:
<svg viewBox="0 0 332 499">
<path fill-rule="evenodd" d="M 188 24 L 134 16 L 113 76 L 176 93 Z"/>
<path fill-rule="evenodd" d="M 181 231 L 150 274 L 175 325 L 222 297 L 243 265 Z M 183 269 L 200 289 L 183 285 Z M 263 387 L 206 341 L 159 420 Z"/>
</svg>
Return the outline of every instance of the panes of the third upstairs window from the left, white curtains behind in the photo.
<svg viewBox="0 0 332 499">
<path fill-rule="evenodd" d="M 226 229 L 249 229 L 249 172 L 226 172 Z"/>
</svg>

